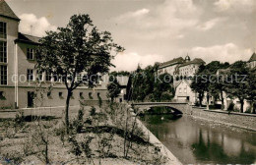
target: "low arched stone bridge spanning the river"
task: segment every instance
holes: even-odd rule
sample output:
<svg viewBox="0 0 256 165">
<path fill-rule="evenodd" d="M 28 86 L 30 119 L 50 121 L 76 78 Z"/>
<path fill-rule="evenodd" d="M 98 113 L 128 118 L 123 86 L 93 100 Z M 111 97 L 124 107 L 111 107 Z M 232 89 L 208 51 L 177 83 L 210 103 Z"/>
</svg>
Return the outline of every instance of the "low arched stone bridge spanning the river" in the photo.
<svg viewBox="0 0 256 165">
<path fill-rule="evenodd" d="M 191 109 L 191 106 L 187 102 L 137 102 L 132 103 L 134 108 L 141 109 L 143 111 L 150 109 L 151 107 L 170 107 L 175 113 L 187 114 Z"/>
</svg>

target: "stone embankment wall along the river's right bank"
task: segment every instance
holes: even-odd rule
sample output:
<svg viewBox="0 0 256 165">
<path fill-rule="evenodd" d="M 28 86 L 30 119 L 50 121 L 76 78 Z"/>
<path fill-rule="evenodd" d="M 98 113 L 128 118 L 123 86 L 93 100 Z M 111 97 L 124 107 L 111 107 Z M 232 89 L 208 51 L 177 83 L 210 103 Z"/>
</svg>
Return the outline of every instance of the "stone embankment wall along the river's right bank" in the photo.
<svg viewBox="0 0 256 165">
<path fill-rule="evenodd" d="M 183 114 L 200 118 L 216 123 L 221 123 L 231 127 L 238 127 L 256 132 L 256 115 L 236 113 L 223 110 L 206 110 L 202 108 L 187 105 L 183 110 Z"/>
</svg>

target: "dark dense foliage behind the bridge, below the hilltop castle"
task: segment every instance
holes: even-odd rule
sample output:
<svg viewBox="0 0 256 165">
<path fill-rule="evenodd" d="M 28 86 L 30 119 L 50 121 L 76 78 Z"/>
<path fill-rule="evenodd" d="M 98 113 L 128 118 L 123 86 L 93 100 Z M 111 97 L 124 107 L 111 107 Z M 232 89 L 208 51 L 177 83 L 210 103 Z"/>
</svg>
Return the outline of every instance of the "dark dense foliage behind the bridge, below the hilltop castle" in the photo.
<svg viewBox="0 0 256 165">
<path fill-rule="evenodd" d="M 131 85 L 127 88 L 128 99 L 135 101 L 161 101 L 173 97 L 173 78 L 164 73 L 157 75 L 159 64 L 137 70 L 130 76 Z"/>
</svg>

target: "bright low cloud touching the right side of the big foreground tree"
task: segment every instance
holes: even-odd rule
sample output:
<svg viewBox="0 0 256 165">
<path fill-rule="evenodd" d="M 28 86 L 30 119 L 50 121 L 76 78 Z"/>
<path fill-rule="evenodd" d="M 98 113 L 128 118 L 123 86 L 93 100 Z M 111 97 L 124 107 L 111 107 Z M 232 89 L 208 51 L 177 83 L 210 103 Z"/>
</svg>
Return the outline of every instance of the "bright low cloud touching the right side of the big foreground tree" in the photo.
<svg viewBox="0 0 256 165">
<path fill-rule="evenodd" d="M 116 66 L 111 68 L 112 71 L 134 71 L 138 67 L 138 64 L 142 68 L 148 65 L 154 65 L 156 62 L 162 62 L 163 59 L 158 54 L 139 55 L 136 52 L 120 53 L 118 54 L 112 63 Z"/>
</svg>

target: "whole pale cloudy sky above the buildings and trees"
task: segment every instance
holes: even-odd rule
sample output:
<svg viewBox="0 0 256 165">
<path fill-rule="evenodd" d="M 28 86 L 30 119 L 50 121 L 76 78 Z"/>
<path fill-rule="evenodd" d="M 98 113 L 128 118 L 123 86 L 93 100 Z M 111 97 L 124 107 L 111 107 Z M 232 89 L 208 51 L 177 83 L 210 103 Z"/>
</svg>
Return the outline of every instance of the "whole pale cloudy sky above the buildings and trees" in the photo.
<svg viewBox="0 0 256 165">
<path fill-rule="evenodd" d="M 112 71 L 133 71 L 187 54 L 206 63 L 248 61 L 256 51 L 256 0 L 6 0 L 36 36 L 89 14 L 125 48 Z"/>
</svg>

